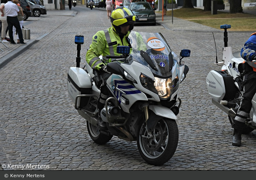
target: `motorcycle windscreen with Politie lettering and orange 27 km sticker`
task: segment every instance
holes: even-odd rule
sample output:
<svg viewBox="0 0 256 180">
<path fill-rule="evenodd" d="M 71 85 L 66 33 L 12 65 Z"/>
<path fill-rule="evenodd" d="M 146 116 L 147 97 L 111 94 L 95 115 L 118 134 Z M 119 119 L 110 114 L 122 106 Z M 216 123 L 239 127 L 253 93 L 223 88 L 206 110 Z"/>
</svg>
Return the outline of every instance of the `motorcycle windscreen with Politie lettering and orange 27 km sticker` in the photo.
<svg viewBox="0 0 256 180">
<path fill-rule="evenodd" d="M 135 32 L 128 36 L 132 52 L 130 63 L 147 66 L 156 77 L 169 78 L 179 69 L 178 56 L 171 50 L 161 33 Z"/>
</svg>

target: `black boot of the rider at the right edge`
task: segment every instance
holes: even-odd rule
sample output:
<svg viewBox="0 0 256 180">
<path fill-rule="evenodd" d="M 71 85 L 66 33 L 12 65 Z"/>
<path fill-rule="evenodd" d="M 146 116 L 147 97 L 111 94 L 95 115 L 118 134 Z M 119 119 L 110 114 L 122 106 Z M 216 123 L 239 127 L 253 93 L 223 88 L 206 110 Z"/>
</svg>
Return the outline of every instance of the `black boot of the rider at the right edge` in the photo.
<svg viewBox="0 0 256 180">
<path fill-rule="evenodd" d="M 241 146 L 241 139 L 242 139 L 242 131 L 245 128 L 245 123 L 234 120 L 234 131 L 232 137 L 232 145 L 233 146 Z"/>
</svg>

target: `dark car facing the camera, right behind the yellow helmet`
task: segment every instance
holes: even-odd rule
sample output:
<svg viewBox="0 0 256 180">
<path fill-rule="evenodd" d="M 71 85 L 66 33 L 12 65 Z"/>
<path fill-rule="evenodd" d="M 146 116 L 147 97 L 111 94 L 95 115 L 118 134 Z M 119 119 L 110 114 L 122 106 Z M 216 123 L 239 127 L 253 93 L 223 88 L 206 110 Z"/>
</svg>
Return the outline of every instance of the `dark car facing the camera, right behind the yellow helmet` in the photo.
<svg viewBox="0 0 256 180">
<path fill-rule="evenodd" d="M 135 24 L 156 25 L 156 14 L 149 2 L 131 2 L 129 9 L 135 15 Z"/>
</svg>

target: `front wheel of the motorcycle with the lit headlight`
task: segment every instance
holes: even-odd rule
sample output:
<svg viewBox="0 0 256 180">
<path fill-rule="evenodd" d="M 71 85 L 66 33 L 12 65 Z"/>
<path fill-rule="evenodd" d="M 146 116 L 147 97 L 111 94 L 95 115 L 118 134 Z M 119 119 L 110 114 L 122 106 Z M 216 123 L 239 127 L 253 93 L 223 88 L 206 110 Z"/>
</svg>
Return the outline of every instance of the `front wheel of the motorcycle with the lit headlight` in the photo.
<svg viewBox="0 0 256 180">
<path fill-rule="evenodd" d="M 163 118 L 148 138 L 145 123 L 137 136 L 137 146 L 141 157 L 150 165 L 163 165 L 174 155 L 178 146 L 178 126 L 175 120 Z"/>
</svg>

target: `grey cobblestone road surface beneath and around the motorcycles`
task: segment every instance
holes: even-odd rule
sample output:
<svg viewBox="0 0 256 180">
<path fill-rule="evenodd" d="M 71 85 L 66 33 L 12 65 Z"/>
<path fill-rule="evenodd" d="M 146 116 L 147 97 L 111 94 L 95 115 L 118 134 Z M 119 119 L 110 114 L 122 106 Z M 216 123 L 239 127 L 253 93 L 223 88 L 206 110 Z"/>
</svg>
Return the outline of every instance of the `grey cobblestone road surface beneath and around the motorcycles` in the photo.
<svg viewBox="0 0 256 180">
<path fill-rule="evenodd" d="M 135 26 L 134 30 L 161 32 L 176 54 L 191 50 L 191 57 L 184 59 L 189 73 L 180 85 L 178 148 L 167 163 L 145 163 L 136 142 L 113 137 L 99 146 L 90 139 L 85 120 L 69 99 L 67 72 L 76 66 L 75 35 L 85 36 L 82 66 L 93 34 L 111 24 L 105 11 L 78 5 L 72 11 L 29 17 L 25 28 L 30 28 L 30 41 L 44 37 L 0 69 L 0 164 L 48 165 L 43 169 L 50 170 L 256 170 L 255 131 L 242 135 L 241 147 L 232 146 L 228 116 L 211 103 L 206 88 L 208 72 L 221 68 L 214 64 L 213 32 L 219 60 L 223 33 L 176 18 L 171 24 L 170 18 L 164 18 L 161 22 L 157 15 L 164 26 Z M 234 53 L 250 34 L 228 34 Z"/>
</svg>

